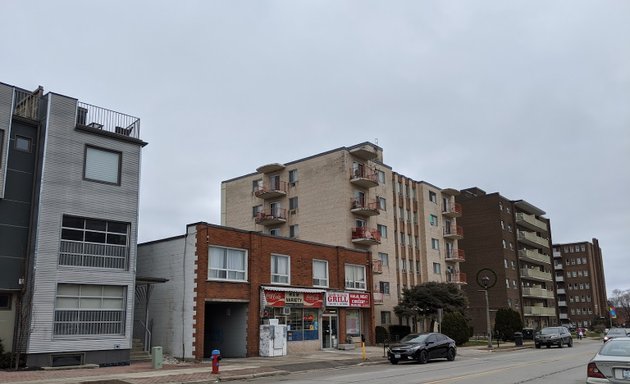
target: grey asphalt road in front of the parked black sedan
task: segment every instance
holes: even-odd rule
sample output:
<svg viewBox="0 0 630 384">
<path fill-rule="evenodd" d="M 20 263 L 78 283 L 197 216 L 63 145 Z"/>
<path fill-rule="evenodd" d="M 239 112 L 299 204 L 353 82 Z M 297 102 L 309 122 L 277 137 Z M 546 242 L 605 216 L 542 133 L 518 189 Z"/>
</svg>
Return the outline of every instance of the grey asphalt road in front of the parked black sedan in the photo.
<svg viewBox="0 0 630 384">
<path fill-rule="evenodd" d="M 575 342 L 573 348 L 527 348 L 510 352 L 461 354 L 455 361 L 426 365 L 399 363 L 317 370 L 232 383 L 392 383 L 392 384 L 574 384 L 586 381 L 586 364 L 601 342 Z"/>
</svg>

